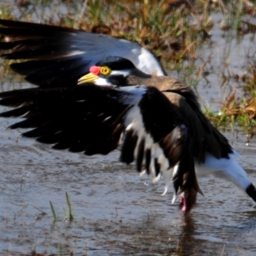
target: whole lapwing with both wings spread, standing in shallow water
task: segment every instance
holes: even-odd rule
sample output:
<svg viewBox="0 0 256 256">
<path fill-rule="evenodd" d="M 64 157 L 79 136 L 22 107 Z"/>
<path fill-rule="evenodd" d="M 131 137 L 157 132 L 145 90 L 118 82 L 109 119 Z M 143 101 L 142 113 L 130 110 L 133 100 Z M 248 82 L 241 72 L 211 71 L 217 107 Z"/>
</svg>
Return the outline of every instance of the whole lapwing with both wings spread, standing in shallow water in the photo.
<svg viewBox="0 0 256 256">
<path fill-rule="evenodd" d="M 0 20 L 8 36 L 2 57 L 37 88 L 0 93 L 1 116 L 22 116 L 10 128 L 52 148 L 108 154 L 173 182 L 182 212 L 202 193 L 196 179 L 228 179 L 256 201 L 256 189 L 235 161 L 236 152 L 205 118 L 189 86 L 164 76 L 154 55 L 127 40 L 26 22 Z M 84 76 L 85 75 L 85 76 Z M 157 75 L 157 76 L 156 76 Z M 78 82 L 77 82 L 78 80 Z"/>
</svg>

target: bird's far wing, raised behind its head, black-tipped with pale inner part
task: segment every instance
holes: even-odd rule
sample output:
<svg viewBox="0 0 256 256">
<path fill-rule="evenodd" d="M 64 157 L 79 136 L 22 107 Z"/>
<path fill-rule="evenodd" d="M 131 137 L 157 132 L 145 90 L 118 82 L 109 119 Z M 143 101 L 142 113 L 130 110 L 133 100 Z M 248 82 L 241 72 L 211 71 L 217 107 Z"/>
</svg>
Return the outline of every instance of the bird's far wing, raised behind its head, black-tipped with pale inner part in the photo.
<svg viewBox="0 0 256 256">
<path fill-rule="evenodd" d="M 0 49 L 9 50 L 2 57 L 27 60 L 13 63 L 12 69 L 42 87 L 63 86 L 63 83 L 76 86 L 77 79 L 92 65 L 111 55 L 131 60 L 147 74 L 164 75 L 152 52 L 127 40 L 13 20 L 0 20 L 0 24 L 0 34 L 7 36 Z"/>
</svg>

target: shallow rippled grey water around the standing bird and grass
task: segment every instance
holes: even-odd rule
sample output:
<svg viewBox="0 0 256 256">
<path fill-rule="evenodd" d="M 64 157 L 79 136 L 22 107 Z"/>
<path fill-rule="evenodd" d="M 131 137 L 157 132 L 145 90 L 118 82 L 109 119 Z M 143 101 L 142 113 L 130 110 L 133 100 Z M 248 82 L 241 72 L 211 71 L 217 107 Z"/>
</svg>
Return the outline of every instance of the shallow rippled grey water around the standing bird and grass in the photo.
<svg viewBox="0 0 256 256">
<path fill-rule="evenodd" d="M 212 47 L 198 52 L 202 60 L 214 56 L 206 66 L 211 86 L 201 79 L 198 87 L 203 102 L 218 102 L 226 90 L 239 85 L 220 86 L 220 72 L 227 71 L 218 61 L 220 56 L 225 59 L 226 35 L 213 30 Z M 230 44 L 231 71 L 241 74 L 254 39 L 246 35 L 241 43 Z M 118 162 L 118 150 L 92 157 L 51 150 L 20 137 L 22 131 L 6 130 L 16 121 L 0 119 L 1 255 L 28 255 L 34 249 L 45 255 L 256 255 L 256 204 L 229 182 L 200 179 L 204 197 L 199 195 L 195 209 L 183 216 L 179 203 L 171 204 L 172 191 L 161 196 L 163 180 L 154 185 L 150 177 L 140 178 L 133 165 Z M 225 135 L 256 184 L 255 140 L 246 147 L 243 133 Z M 65 218 L 65 191 L 74 221 Z"/>
</svg>

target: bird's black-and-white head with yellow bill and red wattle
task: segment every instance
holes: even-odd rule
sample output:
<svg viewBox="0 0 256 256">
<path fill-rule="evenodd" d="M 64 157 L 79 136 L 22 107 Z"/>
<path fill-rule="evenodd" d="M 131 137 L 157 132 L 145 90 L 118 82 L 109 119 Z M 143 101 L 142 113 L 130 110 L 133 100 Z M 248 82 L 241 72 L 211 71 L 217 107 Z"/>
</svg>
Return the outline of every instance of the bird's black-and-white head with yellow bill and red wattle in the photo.
<svg viewBox="0 0 256 256">
<path fill-rule="evenodd" d="M 127 77 L 150 77 L 136 68 L 132 61 L 118 56 L 108 56 L 90 67 L 90 73 L 81 77 L 77 84 L 93 83 L 101 86 L 127 85 Z"/>
</svg>

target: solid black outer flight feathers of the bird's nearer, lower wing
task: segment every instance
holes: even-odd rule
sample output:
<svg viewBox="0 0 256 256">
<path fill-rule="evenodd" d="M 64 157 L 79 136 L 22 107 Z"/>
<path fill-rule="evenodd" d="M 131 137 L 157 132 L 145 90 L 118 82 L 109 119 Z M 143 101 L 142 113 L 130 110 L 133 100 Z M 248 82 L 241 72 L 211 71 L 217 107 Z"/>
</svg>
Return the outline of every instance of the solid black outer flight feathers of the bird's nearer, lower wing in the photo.
<svg viewBox="0 0 256 256">
<path fill-rule="evenodd" d="M 23 135 L 54 144 L 53 148 L 108 154 L 118 145 L 122 118 L 129 109 L 129 104 L 114 100 L 119 96 L 116 90 L 97 86 L 3 92 L 0 104 L 19 107 L 1 116 L 24 117 L 10 128 L 33 128 Z"/>
</svg>

